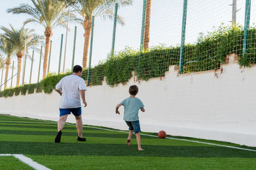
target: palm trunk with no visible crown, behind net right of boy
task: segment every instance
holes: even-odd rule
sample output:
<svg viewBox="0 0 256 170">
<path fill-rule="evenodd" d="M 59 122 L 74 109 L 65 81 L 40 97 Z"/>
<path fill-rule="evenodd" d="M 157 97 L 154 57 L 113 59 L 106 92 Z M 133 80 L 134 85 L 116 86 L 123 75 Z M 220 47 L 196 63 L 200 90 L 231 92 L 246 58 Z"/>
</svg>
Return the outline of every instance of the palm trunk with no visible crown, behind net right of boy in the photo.
<svg viewBox="0 0 256 170">
<path fill-rule="evenodd" d="M 150 13 L 151 13 L 151 0 L 147 0 L 143 50 L 148 49 L 149 29 L 150 29 Z"/>
</svg>

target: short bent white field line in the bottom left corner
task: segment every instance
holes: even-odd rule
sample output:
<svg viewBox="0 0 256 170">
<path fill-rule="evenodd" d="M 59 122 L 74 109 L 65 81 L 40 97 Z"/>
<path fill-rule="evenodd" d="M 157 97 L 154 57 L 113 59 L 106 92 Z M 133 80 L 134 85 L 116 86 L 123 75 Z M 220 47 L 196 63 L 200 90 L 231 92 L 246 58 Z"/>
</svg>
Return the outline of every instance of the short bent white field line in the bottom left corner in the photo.
<svg viewBox="0 0 256 170">
<path fill-rule="evenodd" d="M 4 156 L 12 156 L 15 157 L 17 159 L 19 159 L 21 162 L 24 162 L 25 164 L 27 164 L 30 167 L 33 167 L 34 169 L 38 169 L 38 170 L 51 170 L 45 166 L 42 166 L 41 164 L 38 164 L 37 162 L 35 162 L 34 160 L 30 159 L 29 157 L 25 157 L 22 154 L 0 154 L 0 157 L 4 157 Z"/>
</svg>

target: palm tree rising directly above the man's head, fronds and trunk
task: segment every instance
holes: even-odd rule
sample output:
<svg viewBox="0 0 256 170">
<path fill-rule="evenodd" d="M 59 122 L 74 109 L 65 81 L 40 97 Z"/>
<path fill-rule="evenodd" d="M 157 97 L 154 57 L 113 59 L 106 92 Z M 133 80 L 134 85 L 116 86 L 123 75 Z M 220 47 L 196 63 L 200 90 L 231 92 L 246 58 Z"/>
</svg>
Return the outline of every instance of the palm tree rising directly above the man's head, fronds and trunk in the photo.
<svg viewBox="0 0 256 170">
<path fill-rule="evenodd" d="M 84 50 L 83 50 L 83 67 L 87 65 L 87 55 L 92 31 L 92 17 L 113 18 L 114 6 L 126 6 L 132 4 L 132 0 L 77 0 L 71 6 L 83 17 L 84 28 Z M 117 21 L 124 25 L 124 20 L 119 15 Z"/>
</svg>

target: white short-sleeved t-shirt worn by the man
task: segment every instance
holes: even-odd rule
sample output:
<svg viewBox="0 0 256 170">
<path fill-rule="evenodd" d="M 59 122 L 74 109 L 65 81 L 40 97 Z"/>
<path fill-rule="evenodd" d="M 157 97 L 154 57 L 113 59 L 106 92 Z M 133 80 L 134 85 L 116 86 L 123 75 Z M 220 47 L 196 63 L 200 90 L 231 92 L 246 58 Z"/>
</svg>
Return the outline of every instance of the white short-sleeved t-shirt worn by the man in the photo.
<svg viewBox="0 0 256 170">
<path fill-rule="evenodd" d="M 73 74 L 65 76 L 61 78 L 55 89 L 62 90 L 59 105 L 61 109 L 81 107 L 80 90 L 86 90 L 83 78 Z"/>
</svg>

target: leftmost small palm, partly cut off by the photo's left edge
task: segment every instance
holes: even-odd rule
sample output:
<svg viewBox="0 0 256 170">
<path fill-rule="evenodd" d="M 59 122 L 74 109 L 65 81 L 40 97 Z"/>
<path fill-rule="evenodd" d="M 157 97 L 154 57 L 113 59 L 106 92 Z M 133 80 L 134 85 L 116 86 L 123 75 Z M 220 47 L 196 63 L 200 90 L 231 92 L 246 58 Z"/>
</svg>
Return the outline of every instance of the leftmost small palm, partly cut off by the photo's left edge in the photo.
<svg viewBox="0 0 256 170">
<path fill-rule="evenodd" d="M 13 53 L 15 51 L 15 46 L 10 43 L 10 41 L 7 41 L 4 38 L 0 39 L 1 45 L 0 45 L 0 50 L 6 55 L 6 71 L 5 71 L 5 78 L 4 78 L 4 88 L 6 88 L 7 83 L 5 83 L 8 79 L 8 72 L 9 72 L 9 67 L 11 64 L 11 59 L 13 57 Z"/>
</svg>

